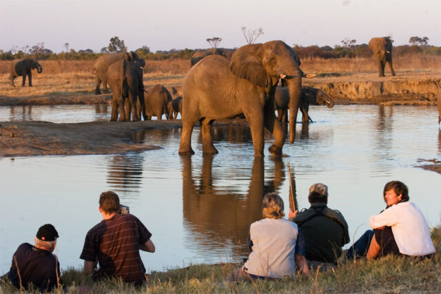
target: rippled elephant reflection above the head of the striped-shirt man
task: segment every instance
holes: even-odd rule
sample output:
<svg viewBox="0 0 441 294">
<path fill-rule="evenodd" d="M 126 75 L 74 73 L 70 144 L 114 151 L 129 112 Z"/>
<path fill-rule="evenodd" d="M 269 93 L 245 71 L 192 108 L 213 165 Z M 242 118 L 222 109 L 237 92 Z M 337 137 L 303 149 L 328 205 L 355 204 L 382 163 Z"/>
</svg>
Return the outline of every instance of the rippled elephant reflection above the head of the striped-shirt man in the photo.
<svg viewBox="0 0 441 294">
<path fill-rule="evenodd" d="M 107 171 L 107 184 L 114 191 L 133 191 L 141 187 L 143 156 L 141 154 L 116 155 Z"/>
</svg>

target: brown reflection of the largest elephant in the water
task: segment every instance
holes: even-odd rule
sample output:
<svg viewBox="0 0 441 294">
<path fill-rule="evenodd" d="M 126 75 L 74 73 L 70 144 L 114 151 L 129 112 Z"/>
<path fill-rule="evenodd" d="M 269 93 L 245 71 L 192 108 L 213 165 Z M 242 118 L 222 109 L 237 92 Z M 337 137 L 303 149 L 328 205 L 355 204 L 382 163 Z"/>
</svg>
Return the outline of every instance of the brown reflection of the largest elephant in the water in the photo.
<svg viewBox="0 0 441 294">
<path fill-rule="evenodd" d="M 274 160 L 274 180 L 265 183 L 263 158 L 254 158 L 251 182 L 244 195 L 237 192 L 222 191 L 215 183 L 222 178 L 212 174 L 214 156 L 203 155 L 200 180 L 192 171 L 191 156 L 182 156 L 183 161 L 183 217 L 184 223 L 204 251 L 223 251 L 225 245 L 241 245 L 239 255 L 247 255 L 247 236 L 249 225 L 262 218 L 262 200 L 265 193 L 277 191 L 285 178 L 283 161 Z M 230 246 L 231 248 L 231 246 Z M 231 253 L 231 252 L 230 252 Z"/>
</svg>

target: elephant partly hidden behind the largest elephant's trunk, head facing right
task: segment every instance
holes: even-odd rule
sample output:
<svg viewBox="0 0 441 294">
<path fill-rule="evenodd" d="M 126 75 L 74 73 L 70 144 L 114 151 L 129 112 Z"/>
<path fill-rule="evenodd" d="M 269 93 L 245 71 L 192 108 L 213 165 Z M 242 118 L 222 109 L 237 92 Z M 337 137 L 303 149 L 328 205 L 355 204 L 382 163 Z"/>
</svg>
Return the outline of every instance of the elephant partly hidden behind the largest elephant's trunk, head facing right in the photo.
<svg viewBox="0 0 441 294">
<path fill-rule="evenodd" d="M 326 105 L 328 108 L 332 108 L 334 107 L 334 100 L 320 89 L 304 86 L 300 96 L 302 123 L 307 123 L 308 120 L 311 120 L 308 114 L 309 105 Z M 277 110 L 278 120 L 282 123 L 287 123 L 289 109 L 289 90 L 287 87 L 277 87 L 274 94 L 274 109 Z"/>
</svg>

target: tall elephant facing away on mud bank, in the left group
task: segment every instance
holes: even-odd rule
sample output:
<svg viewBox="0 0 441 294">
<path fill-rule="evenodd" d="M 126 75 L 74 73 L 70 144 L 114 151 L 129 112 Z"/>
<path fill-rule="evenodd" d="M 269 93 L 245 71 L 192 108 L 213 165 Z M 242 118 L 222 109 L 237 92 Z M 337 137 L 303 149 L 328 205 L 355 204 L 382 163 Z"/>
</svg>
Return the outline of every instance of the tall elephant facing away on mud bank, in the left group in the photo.
<svg viewBox="0 0 441 294">
<path fill-rule="evenodd" d="M 112 116 L 110 121 L 130 120 L 132 112 L 133 120 L 140 120 L 139 112 L 136 109 L 136 101 L 139 100 L 141 109 L 144 104 L 143 70 L 141 65 L 145 64 L 143 59 L 136 62 L 121 59 L 112 63 L 107 69 L 107 81 L 112 89 Z"/>
</svg>

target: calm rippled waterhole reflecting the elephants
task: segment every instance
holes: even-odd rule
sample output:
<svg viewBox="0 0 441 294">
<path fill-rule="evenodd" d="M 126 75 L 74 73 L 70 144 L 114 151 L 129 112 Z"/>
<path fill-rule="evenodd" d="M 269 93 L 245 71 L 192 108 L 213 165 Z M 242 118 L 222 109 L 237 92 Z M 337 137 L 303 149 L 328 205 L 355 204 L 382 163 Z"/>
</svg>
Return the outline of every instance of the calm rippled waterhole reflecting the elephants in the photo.
<svg viewBox="0 0 441 294">
<path fill-rule="evenodd" d="M 1 120 L 12 112 L 6 108 L 0 108 Z M 54 122 L 107 120 L 110 111 L 96 112 L 94 105 L 38 107 L 37 116 L 32 107 L 31 118 L 18 109 L 15 118 L 6 120 L 20 115 Z M 196 154 L 183 157 L 178 156 L 181 129 L 154 129 L 136 132 L 132 139 L 163 149 L 0 159 L 0 273 L 8 271 L 17 246 L 32 243 L 37 228 L 47 222 L 60 234 L 61 267 L 81 266 L 85 233 L 101 220 L 98 198 L 107 189 L 119 193 L 153 233 L 156 252 L 141 253 L 147 269 L 241 260 L 248 255 L 249 224 L 261 218 L 263 194 L 278 191 L 288 203 L 288 162 L 299 207 L 309 207 L 309 186 L 324 182 L 329 207 L 343 213 L 351 240 L 368 228 L 369 216 L 384 209 L 382 189 L 389 180 L 405 182 L 429 225 L 440 224 L 441 175 L 414 167 L 418 158 L 441 160 L 435 107 L 312 106 L 310 114 L 315 123 L 297 125 L 296 143 L 287 143 L 280 159 L 266 150 L 270 134 L 265 158 L 254 159 L 251 135 L 243 125 L 214 130 L 215 156 L 202 155 L 198 129 L 192 139 Z"/>
</svg>

